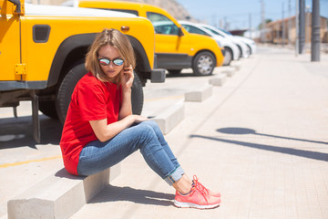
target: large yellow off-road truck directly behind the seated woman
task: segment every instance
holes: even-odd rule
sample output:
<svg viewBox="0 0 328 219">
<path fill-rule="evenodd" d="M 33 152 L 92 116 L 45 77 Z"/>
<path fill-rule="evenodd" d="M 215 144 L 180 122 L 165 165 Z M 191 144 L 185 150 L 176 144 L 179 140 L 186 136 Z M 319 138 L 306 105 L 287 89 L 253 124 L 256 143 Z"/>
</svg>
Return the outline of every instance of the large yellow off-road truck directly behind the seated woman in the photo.
<svg viewBox="0 0 328 219">
<path fill-rule="evenodd" d="M 0 107 L 32 100 L 34 137 L 40 141 L 38 110 L 65 121 L 70 96 L 84 68 L 87 47 L 104 28 L 128 36 L 137 57 L 132 108 L 141 113 L 148 79 L 164 82 L 156 68 L 154 27 L 128 13 L 0 0 Z M 106 13 L 105 13 L 106 12 Z"/>
</svg>

